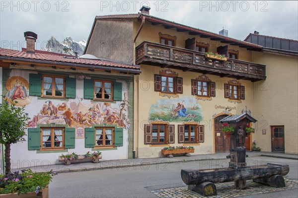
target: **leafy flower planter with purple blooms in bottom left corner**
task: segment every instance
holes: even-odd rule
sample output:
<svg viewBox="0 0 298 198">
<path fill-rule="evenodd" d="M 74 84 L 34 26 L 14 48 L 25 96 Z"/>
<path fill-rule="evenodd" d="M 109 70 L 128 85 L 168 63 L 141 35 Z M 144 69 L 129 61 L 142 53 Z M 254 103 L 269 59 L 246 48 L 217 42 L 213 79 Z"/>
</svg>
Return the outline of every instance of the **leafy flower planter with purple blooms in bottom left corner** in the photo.
<svg viewBox="0 0 298 198">
<path fill-rule="evenodd" d="M 48 185 L 54 175 L 56 173 L 52 171 L 33 173 L 30 169 L 10 172 L 5 176 L 0 174 L 0 197 L 47 198 Z"/>
</svg>

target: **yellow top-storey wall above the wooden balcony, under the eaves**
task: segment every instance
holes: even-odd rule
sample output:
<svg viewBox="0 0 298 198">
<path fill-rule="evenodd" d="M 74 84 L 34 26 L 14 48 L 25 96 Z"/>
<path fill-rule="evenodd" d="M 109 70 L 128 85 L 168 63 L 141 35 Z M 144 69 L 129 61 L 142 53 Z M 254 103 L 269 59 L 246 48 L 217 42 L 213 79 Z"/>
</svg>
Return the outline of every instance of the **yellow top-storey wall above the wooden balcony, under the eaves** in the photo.
<svg viewBox="0 0 298 198">
<path fill-rule="evenodd" d="M 134 21 L 134 38 L 138 32 L 141 22 Z M 217 47 L 228 45 L 228 49 L 239 51 L 239 60 L 251 62 L 251 51 L 246 48 L 239 48 L 239 46 L 233 46 L 220 41 L 212 41 L 210 38 L 201 38 L 200 36 L 189 35 L 188 32 L 177 32 L 176 29 L 165 29 L 163 25 L 151 25 L 146 21 L 136 41 L 136 46 L 140 45 L 143 41 L 150 41 L 159 43 L 159 32 L 162 34 L 169 34 L 176 36 L 176 47 L 185 48 L 185 40 L 189 38 L 196 38 L 198 42 L 208 43 L 210 45 L 209 51 L 213 53 L 217 52 Z"/>
</svg>

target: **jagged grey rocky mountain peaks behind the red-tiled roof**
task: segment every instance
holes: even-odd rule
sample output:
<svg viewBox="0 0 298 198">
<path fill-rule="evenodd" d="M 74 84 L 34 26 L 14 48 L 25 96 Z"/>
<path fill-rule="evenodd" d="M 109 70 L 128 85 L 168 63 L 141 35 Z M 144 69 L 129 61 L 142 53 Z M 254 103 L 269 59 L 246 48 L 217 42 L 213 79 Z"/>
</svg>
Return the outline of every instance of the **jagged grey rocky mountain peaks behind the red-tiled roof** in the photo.
<svg viewBox="0 0 298 198">
<path fill-rule="evenodd" d="M 48 40 L 46 48 L 42 48 L 41 50 L 69 55 L 75 55 L 74 52 L 77 52 L 77 56 L 81 56 L 86 47 L 86 43 L 86 40 L 76 42 L 70 36 L 66 37 L 66 39 L 60 43 L 55 39 L 54 36 L 51 36 L 51 38 Z"/>
</svg>

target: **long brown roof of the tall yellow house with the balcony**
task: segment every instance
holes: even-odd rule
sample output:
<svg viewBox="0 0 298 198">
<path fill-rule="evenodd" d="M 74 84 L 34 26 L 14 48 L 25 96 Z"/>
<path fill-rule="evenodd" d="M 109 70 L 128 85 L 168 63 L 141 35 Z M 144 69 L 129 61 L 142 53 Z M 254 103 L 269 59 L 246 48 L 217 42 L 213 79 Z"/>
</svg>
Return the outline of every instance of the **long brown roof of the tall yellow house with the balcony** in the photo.
<svg viewBox="0 0 298 198">
<path fill-rule="evenodd" d="M 190 27 L 187 25 L 176 23 L 174 21 L 165 20 L 162 18 L 158 18 L 149 14 L 144 14 L 139 12 L 138 14 L 116 14 L 116 15 L 96 16 L 86 43 L 86 48 L 84 50 L 84 53 L 86 52 L 86 49 L 89 45 L 89 40 L 94 30 L 96 20 L 131 20 L 134 18 L 141 19 L 141 17 L 145 17 L 145 20 L 151 22 L 152 24 L 161 24 L 161 25 L 164 25 L 165 27 L 177 28 L 177 30 L 179 31 L 188 31 L 190 35 L 200 35 L 205 38 L 212 38 L 216 41 L 221 41 L 222 43 L 230 43 L 231 45 L 238 45 L 240 47 L 249 48 L 253 50 L 262 49 L 262 46 L 260 45 L 255 45 L 246 41 L 240 41 L 220 34 L 216 34 L 199 28 Z"/>
</svg>

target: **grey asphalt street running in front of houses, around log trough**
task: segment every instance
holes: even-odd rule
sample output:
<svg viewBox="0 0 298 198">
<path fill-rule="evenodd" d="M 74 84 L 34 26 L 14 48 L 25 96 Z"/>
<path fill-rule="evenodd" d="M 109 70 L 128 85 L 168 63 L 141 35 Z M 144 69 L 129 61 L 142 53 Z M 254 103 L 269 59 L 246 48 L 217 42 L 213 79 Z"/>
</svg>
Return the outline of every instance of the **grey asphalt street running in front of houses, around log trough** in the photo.
<svg viewBox="0 0 298 198">
<path fill-rule="evenodd" d="M 179 157 L 175 157 L 178 159 Z M 182 157 L 183 158 L 183 157 Z M 160 158 L 163 160 L 163 158 Z M 210 169 L 227 167 L 229 159 L 188 161 L 178 163 L 150 164 L 142 166 L 110 168 L 95 171 L 60 173 L 53 177 L 50 184 L 51 198 L 156 198 L 151 191 L 160 189 L 185 187 L 182 182 L 181 169 Z M 266 163 L 284 163 L 290 165 L 290 172 L 285 178 L 298 180 L 298 160 L 275 157 L 252 156 L 246 158 L 247 165 L 262 165 Z M 295 186 L 296 185 L 296 186 Z M 234 197 L 269 198 L 292 197 L 297 198 L 298 187 L 295 189 L 275 193 L 247 196 L 245 191 L 236 192 Z M 269 189 L 270 189 L 269 188 Z M 250 188 L 248 188 L 250 189 Z M 248 194 L 250 195 L 250 194 Z M 221 197 L 221 192 L 218 192 Z"/>
</svg>

